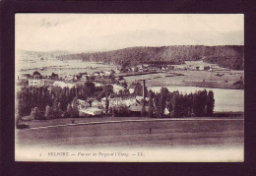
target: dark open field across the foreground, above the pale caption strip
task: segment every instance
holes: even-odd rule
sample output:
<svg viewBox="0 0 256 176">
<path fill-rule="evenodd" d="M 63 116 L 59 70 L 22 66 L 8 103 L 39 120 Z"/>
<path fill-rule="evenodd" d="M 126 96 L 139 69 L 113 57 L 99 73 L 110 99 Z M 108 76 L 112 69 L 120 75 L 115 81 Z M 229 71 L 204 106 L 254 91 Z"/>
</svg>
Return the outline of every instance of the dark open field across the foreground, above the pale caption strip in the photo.
<svg viewBox="0 0 256 176">
<path fill-rule="evenodd" d="M 242 147 L 243 119 L 190 118 L 17 130 L 16 140 L 19 147 Z"/>
</svg>

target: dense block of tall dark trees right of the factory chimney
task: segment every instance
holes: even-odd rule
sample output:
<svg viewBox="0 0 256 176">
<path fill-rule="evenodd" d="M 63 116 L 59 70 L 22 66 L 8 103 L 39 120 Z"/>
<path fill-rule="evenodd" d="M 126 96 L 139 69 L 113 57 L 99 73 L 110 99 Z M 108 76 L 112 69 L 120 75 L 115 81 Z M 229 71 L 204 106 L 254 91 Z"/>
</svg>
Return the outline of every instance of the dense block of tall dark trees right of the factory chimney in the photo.
<svg viewBox="0 0 256 176">
<path fill-rule="evenodd" d="M 211 117 L 215 107 L 214 92 L 199 90 L 194 93 L 182 94 L 179 91 L 168 91 L 167 88 L 161 88 L 156 93 L 149 90 L 149 117 Z M 146 114 L 143 102 L 142 116 Z M 167 114 L 164 111 L 167 109 Z"/>
</svg>

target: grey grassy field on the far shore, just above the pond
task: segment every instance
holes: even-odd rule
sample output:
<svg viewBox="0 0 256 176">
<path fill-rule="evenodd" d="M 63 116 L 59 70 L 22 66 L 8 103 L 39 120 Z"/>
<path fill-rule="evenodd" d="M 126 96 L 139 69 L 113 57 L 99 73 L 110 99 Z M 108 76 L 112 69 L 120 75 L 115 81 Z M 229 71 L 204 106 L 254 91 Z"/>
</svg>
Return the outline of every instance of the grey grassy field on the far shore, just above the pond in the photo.
<svg viewBox="0 0 256 176">
<path fill-rule="evenodd" d="M 233 83 L 244 77 L 243 71 L 173 71 L 184 76 L 171 77 L 168 73 L 124 77 L 128 83 L 147 80 L 147 87 L 205 87 L 205 88 L 237 88 Z M 218 74 L 222 76 L 217 76 Z"/>
</svg>

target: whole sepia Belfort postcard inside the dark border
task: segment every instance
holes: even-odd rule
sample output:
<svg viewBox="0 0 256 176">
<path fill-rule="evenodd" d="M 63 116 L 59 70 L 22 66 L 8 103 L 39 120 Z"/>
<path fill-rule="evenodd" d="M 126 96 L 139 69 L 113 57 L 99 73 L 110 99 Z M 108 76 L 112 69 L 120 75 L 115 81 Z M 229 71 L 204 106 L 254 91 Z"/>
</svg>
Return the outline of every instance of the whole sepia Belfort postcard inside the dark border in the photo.
<svg viewBox="0 0 256 176">
<path fill-rule="evenodd" d="M 15 15 L 15 160 L 243 162 L 243 14 Z"/>
</svg>

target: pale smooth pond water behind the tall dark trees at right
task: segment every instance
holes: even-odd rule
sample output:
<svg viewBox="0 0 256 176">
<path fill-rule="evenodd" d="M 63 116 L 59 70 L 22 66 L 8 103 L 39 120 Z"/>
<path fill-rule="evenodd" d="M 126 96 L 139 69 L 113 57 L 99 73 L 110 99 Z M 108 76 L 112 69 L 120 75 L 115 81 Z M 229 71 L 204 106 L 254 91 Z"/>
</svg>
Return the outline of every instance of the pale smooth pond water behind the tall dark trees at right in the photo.
<svg viewBox="0 0 256 176">
<path fill-rule="evenodd" d="M 161 87 L 151 87 L 153 91 L 159 92 Z M 169 91 L 190 93 L 198 90 L 212 89 L 215 95 L 215 111 L 239 112 L 244 111 L 244 89 L 226 89 L 226 88 L 199 88 L 199 87 L 165 87 Z"/>
</svg>

